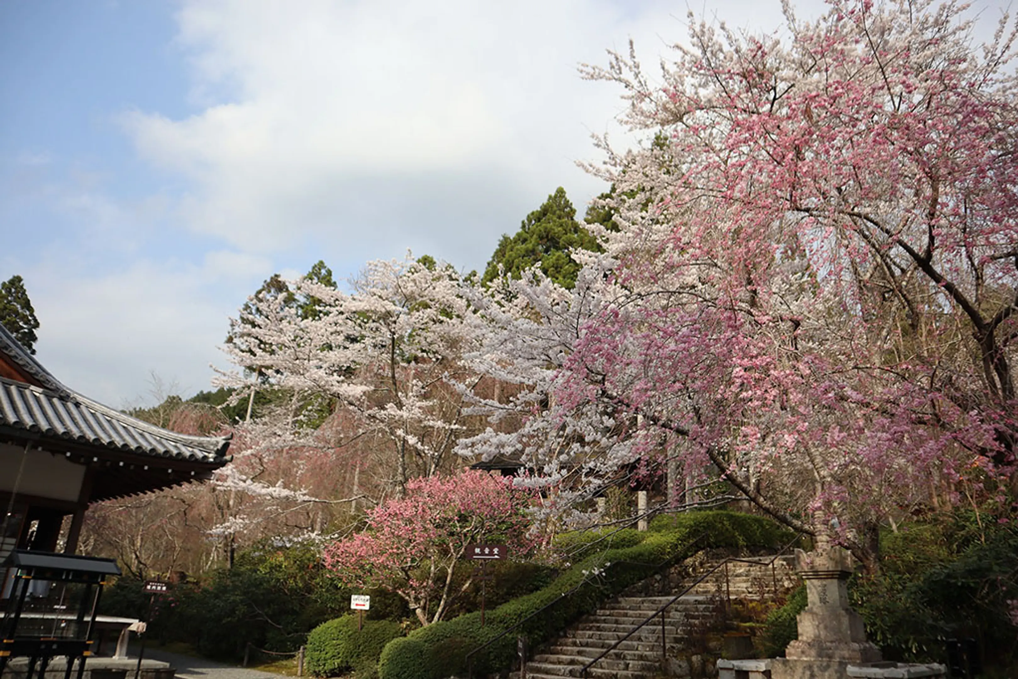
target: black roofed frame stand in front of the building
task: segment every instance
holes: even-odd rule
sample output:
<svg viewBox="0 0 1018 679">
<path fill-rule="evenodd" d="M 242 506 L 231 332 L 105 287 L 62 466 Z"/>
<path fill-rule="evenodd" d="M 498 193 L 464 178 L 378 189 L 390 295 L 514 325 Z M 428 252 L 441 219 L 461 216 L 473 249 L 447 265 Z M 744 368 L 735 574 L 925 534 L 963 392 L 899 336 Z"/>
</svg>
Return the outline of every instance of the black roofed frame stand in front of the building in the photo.
<svg viewBox="0 0 1018 679">
<path fill-rule="evenodd" d="M 116 561 L 14 550 L 3 565 L 14 569 L 14 583 L 0 621 L 0 674 L 11 658 L 26 657 L 24 679 L 32 679 L 37 665 L 43 679 L 50 660 L 64 656 L 64 679 L 70 679 L 75 660 L 81 679 L 105 578 L 120 575 Z"/>
</svg>

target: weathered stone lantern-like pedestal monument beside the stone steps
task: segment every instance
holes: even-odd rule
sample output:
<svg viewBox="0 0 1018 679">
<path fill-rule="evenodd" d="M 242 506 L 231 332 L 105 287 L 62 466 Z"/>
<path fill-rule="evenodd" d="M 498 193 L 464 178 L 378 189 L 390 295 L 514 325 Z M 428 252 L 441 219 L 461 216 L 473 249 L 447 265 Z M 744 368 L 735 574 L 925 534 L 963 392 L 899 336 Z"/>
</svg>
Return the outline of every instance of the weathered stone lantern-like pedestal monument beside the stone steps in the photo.
<svg viewBox="0 0 1018 679">
<path fill-rule="evenodd" d="M 795 565 L 808 605 L 796 619 L 799 638 L 788 644 L 784 659 L 772 661 L 774 679 L 847 677 L 849 665 L 879 662 L 880 648 L 866 640 L 862 618 L 848 606 L 848 552 L 819 541 L 813 552 L 797 550 Z"/>
</svg>

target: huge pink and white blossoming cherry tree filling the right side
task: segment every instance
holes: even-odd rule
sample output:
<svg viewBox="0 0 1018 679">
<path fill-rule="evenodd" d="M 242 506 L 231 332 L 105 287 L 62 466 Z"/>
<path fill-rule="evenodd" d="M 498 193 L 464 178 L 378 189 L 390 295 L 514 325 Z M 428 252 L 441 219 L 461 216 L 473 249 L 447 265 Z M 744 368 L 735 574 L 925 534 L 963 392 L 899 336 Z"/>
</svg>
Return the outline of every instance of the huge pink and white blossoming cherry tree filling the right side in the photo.
<svg viewBox="0 0 1018 679">
<path fill-rule="evenodd" d="M 691 17 L 660 82 L 632 50 L 587 68 L 651 136 L 601 144 L 614 292 L 560 407 L 638 414 L 637 448 L 680 436 L 860 554 L 895 507 L 1013 478 L 1015 32 L 973 45 L 964 9 L 786 5 L 785 38 Z"/>
</svg>

